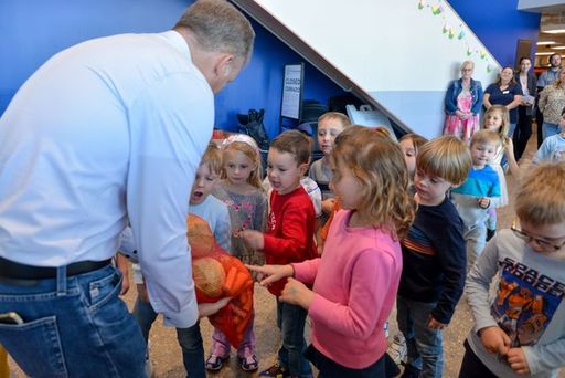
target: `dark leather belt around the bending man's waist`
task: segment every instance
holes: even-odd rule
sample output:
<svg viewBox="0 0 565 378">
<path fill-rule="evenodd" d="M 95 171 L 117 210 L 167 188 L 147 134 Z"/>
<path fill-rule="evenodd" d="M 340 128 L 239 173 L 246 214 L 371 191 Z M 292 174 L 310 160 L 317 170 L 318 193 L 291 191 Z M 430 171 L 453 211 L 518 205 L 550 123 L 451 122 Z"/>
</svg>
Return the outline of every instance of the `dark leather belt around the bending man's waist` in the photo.
<svg viewBox="0 0 565 378">
<path fill-rule="evenodd" d="M 96 271 L 100 267 L 107 266 L 110 262 L 111 259 L 72 263 L 66 265 L 66 275 L 72 276 Z M 0 258 L 0 277 L 14 280 L 44 280 L 55 279 L 56 276 L 56 267 L 25 265 Z"/>
</svg>

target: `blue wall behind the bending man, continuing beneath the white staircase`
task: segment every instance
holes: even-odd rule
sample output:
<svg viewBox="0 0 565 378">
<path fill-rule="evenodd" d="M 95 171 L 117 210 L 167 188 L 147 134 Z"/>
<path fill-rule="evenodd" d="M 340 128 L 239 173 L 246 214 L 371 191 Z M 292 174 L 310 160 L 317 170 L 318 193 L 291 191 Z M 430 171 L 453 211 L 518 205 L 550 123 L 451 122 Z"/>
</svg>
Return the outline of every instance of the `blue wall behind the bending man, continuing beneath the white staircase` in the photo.
<svg viewBox="0 0 565 378">
<path fill-rule="evenodd" d="M 1 0 L 0 114 L 23 82 L 49 57 L 78 42 L 128 32 L 160 32 L 174 25 L 189 0 Z M 265 108 L 265 126 L 278 133 L 282 69 L 301 59 L 260 25 L 255 53 L 236 81 L 216 96 L 216 125 L 235 129 L 237 113 Z M 306 65 L 305 96 L 327 103 L 343 94 Z"/>
</svg>

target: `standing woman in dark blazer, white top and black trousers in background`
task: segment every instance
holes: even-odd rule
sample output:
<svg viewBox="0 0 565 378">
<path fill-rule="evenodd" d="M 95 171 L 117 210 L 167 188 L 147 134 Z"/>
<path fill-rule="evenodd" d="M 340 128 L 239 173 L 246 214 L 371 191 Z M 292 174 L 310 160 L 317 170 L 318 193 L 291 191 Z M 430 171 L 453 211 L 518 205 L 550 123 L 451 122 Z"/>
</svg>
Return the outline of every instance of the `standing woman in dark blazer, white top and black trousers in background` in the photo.
<svg viewBox="0 0 565 378">
<path fill-rule="evenodd" d="M 532 61 L 529 56 L 522 56 L 520 59 L 520 72 L 514 75 L 514 80 L 520 84 L 522 88 L 522 103 L 518 106 L 518 125 L 514 130 L 514 157 L 518 160 L 524 154 L 527 140 L 532 136 L 532 116 L 534 98 L 537 94 L 537 80 L 532 69 Z"/>
</svg>

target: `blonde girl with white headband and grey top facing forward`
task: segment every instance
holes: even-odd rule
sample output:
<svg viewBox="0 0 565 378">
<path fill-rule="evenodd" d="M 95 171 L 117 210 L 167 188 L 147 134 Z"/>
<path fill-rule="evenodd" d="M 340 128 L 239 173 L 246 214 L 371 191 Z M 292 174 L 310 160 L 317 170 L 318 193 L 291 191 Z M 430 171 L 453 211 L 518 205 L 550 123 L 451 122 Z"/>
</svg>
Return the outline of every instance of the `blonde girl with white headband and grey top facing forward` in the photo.
<svg viewBox="0 0 565 378">
<path fill-rule="evenodd" d="M 246 264 L 262 264 L 265 258 L 245 245 L 239 233 L 243 230 L 265 231 L 267 197 L 260 182 L 262 167 L 259 148 L 255 140 L 243 134 L 230 136 L 222 144 L 222 180 L 212 192 L 230 211 L 231 253 Z M 217 371 L 230 358 L 230 342 L 220 330 L 212 335 L 212 351 L 206 359 L 206 369 Z M 245 330 L 244 340 L 237 348 L 239 367 L 245 371 L 257 370 L 253 322 Z"/>
</svg>

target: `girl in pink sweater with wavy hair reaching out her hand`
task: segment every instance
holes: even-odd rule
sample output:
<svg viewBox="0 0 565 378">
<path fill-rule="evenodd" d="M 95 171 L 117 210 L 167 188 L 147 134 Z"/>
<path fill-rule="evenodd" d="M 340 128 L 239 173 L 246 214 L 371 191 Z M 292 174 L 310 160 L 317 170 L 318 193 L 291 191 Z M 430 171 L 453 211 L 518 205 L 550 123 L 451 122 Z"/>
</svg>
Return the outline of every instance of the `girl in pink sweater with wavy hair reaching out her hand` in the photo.
<svg viewBox="0 0 565 378">
<path fill-rule="evenodd" d="M 398 240 L 414 219 L 406 164 L 394 141 L 361 126 L 338 136 L 331 162 L 343 210 L 322 256 L 248 267 L 264 277 L 262 285 L 289 277 L 280 301 L 308 311 L 312 344 L 306 356 L 320 377 L 384 377 L 383 326 L 402 271 Z"/>
</svg>

